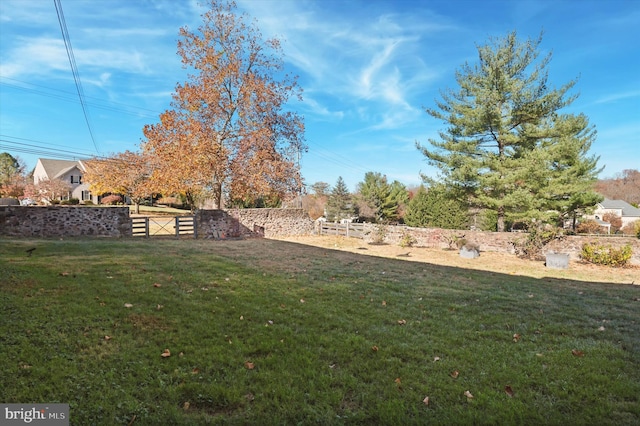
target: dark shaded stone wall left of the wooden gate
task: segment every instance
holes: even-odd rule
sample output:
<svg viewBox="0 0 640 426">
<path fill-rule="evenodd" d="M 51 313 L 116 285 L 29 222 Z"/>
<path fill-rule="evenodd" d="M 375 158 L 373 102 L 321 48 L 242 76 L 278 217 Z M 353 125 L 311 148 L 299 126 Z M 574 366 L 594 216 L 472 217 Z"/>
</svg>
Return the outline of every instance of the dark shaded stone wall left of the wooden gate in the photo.
<svg viewBox="0 0 640 426">
<path fill-rule="evenodd" d="M 129 207 L 0 206 L 0 235 L 127 237 Z"/>
</svg>

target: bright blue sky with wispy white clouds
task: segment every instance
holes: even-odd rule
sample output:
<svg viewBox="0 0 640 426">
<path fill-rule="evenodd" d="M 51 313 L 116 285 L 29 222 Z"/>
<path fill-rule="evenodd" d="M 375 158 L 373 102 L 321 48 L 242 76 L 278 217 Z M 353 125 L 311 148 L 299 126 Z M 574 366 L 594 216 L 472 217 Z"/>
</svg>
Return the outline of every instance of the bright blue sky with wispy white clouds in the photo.
<svg viewBox="0 0 640 426">
<path fill-rule="evenodd" d="M 138 148 L 145 124 L 169 107 L 186 71 L 178 29 L 196 28 L 197 1 L 61 0 L 91 124 L 85 121 L 53 1 L 0 2 L 0 152 L 29 168 L 38 157 Z M 240 0 L 263 36 L 283 40 L 299 76 L 309 151 L 307 184 L 351 190 L 368 171 L 412 186 L 434 175 L 415 142 L 444 124 L 424 112 L 477 44 L 544 30 L 552 86 L 578 78 L 567 112 L 598 130 L 601 177 L 640 168 L 640 1 Z"/>
</svg>

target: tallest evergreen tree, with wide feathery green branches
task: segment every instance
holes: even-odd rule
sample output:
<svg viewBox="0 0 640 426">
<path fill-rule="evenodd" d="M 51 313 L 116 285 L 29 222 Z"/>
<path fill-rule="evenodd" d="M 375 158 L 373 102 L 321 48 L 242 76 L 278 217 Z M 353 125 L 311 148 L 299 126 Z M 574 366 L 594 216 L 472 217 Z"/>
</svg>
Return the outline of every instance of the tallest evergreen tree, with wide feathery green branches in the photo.
<svg viewBox="0 0 640 426">
<path fill-rule="evenodd" d="M 475 207 L 493 210 L 498 231 L 505 218 L 549 220 L 571 215 L 576 194 L 589 198 L 597 157 L 587 156 L 596 132 L 583 114 L 561 114 L 576 95 L 572 80 L 550 88 L 537 39 L 515 31 L 478 47 L 478 63 L 456 72 L 457 91 L 427 109 L 447 130 L 432 148 L 417 144 L 440 180 Z"/>
</svg>

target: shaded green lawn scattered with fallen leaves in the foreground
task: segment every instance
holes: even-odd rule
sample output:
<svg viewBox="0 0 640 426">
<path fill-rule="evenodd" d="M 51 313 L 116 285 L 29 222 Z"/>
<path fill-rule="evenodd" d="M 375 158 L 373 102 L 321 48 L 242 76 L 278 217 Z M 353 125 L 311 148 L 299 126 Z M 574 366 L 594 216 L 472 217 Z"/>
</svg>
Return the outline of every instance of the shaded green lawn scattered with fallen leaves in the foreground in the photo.
<svg viewBox="0 0 640 426">
<path fill-rule="evenodd" d="M 75 425 L 637 425 L 639 312 L 639 286 L 282 241 L 4 239 L 0 401 Z"/>
</svg>

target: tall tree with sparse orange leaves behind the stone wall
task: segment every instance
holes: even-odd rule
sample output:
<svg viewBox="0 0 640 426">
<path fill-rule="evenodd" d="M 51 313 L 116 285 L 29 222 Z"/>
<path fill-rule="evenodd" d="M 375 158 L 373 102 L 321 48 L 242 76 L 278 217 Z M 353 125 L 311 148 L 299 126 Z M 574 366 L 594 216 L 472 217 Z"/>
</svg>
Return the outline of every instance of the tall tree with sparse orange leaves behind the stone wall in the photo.
<svg viewBox="0 0 640 426">
<path fill-rule="evenodd" d="M 279 40 L 263 40 L 234 2 L 208 6 L 196 32 L 180 29 L 188 81 L 176 86 L 160 122 L 144 128 L 151 183 L 188 198 L 207 193 L 217 208 L 223 199 L 285 198 L 302 187 L 296 159 L 305 149 L 304 125 L 286 110 L 301 89 L 295 78 L 276 79 Z"/>
</svg>

